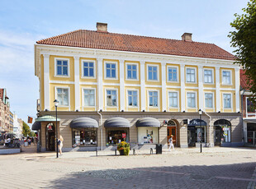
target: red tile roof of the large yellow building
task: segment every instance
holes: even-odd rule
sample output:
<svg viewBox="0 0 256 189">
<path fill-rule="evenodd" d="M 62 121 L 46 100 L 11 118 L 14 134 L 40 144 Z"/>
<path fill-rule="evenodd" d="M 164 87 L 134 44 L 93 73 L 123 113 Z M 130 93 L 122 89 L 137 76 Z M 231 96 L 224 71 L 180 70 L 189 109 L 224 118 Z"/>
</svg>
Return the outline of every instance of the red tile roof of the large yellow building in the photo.
<svg viewBox="0 0 256 189">
<path fill-rule="evenodd" d="M 41 39 L 36 43 L 78 48 L 98 48 L 138 53 L 158 53 L 186 57 L 235 60 L 234 55 L 215 44 L 114 34 L 93 30 L 75 30 L 64 35 Z"/>
</svg>

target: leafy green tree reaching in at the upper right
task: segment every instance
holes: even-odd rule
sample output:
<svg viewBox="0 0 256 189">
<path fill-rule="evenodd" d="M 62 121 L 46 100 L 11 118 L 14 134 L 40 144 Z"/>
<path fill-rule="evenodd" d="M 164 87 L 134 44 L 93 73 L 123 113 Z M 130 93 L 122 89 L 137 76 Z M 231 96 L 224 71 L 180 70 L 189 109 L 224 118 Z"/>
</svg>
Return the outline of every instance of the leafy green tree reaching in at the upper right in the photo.
<svg viewBox="0 0 256 189">
<path fill-rule="evenodd" d="M 235 21 L 230 23 L 235 30 L 228 36 L 231 39 L 231 47 L 236 48 L 235 63 L 245 69 L 248 90 L 256 94 L 256 0 L 250 0 L 247 6 L 242 9 L 244 14 L 235 14 Z"/>
</svg>

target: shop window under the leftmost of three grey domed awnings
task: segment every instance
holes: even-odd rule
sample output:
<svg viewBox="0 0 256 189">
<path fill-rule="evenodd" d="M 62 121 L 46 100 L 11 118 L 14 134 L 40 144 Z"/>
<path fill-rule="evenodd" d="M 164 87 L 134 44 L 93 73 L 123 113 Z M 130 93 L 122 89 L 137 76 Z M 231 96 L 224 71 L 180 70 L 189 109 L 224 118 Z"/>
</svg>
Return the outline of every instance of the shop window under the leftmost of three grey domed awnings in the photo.
<svg viewBox="0 0 256 189">
<path fill-rule="evenodd" d="M 73 128 L 73 147 L 96 145 L 97 128 Z"/>
</svg>

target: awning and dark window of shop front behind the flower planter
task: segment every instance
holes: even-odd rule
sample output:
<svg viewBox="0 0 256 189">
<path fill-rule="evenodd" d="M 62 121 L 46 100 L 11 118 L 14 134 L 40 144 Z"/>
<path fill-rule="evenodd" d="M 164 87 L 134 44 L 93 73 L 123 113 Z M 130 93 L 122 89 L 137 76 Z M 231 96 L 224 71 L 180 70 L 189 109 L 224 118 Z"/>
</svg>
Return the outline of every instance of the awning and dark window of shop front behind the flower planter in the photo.
<svg viewBox="0 0 256 189">
<path fill-rule="evenodd" d="M 129 142 L 130 122 L 126 118 L 108 118 L 104 122 L 106 128 L 106 146 L 115 146 L 121 141 Z"/>
</svg>

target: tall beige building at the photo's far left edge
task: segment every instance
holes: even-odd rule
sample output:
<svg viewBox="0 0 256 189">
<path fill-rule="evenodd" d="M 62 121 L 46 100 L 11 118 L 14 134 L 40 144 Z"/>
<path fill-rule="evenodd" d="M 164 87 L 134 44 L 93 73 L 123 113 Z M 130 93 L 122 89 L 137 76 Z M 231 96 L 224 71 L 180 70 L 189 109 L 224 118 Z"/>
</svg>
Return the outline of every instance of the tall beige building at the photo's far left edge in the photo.
<svg viewBox="0 0 256 189">
<path fill-rule="evenodd" d="M 10 104 L 7 90 L 0 89 L 0 127 L 2 131 L 11 131 L 10 127 Z"/>
</svg>

